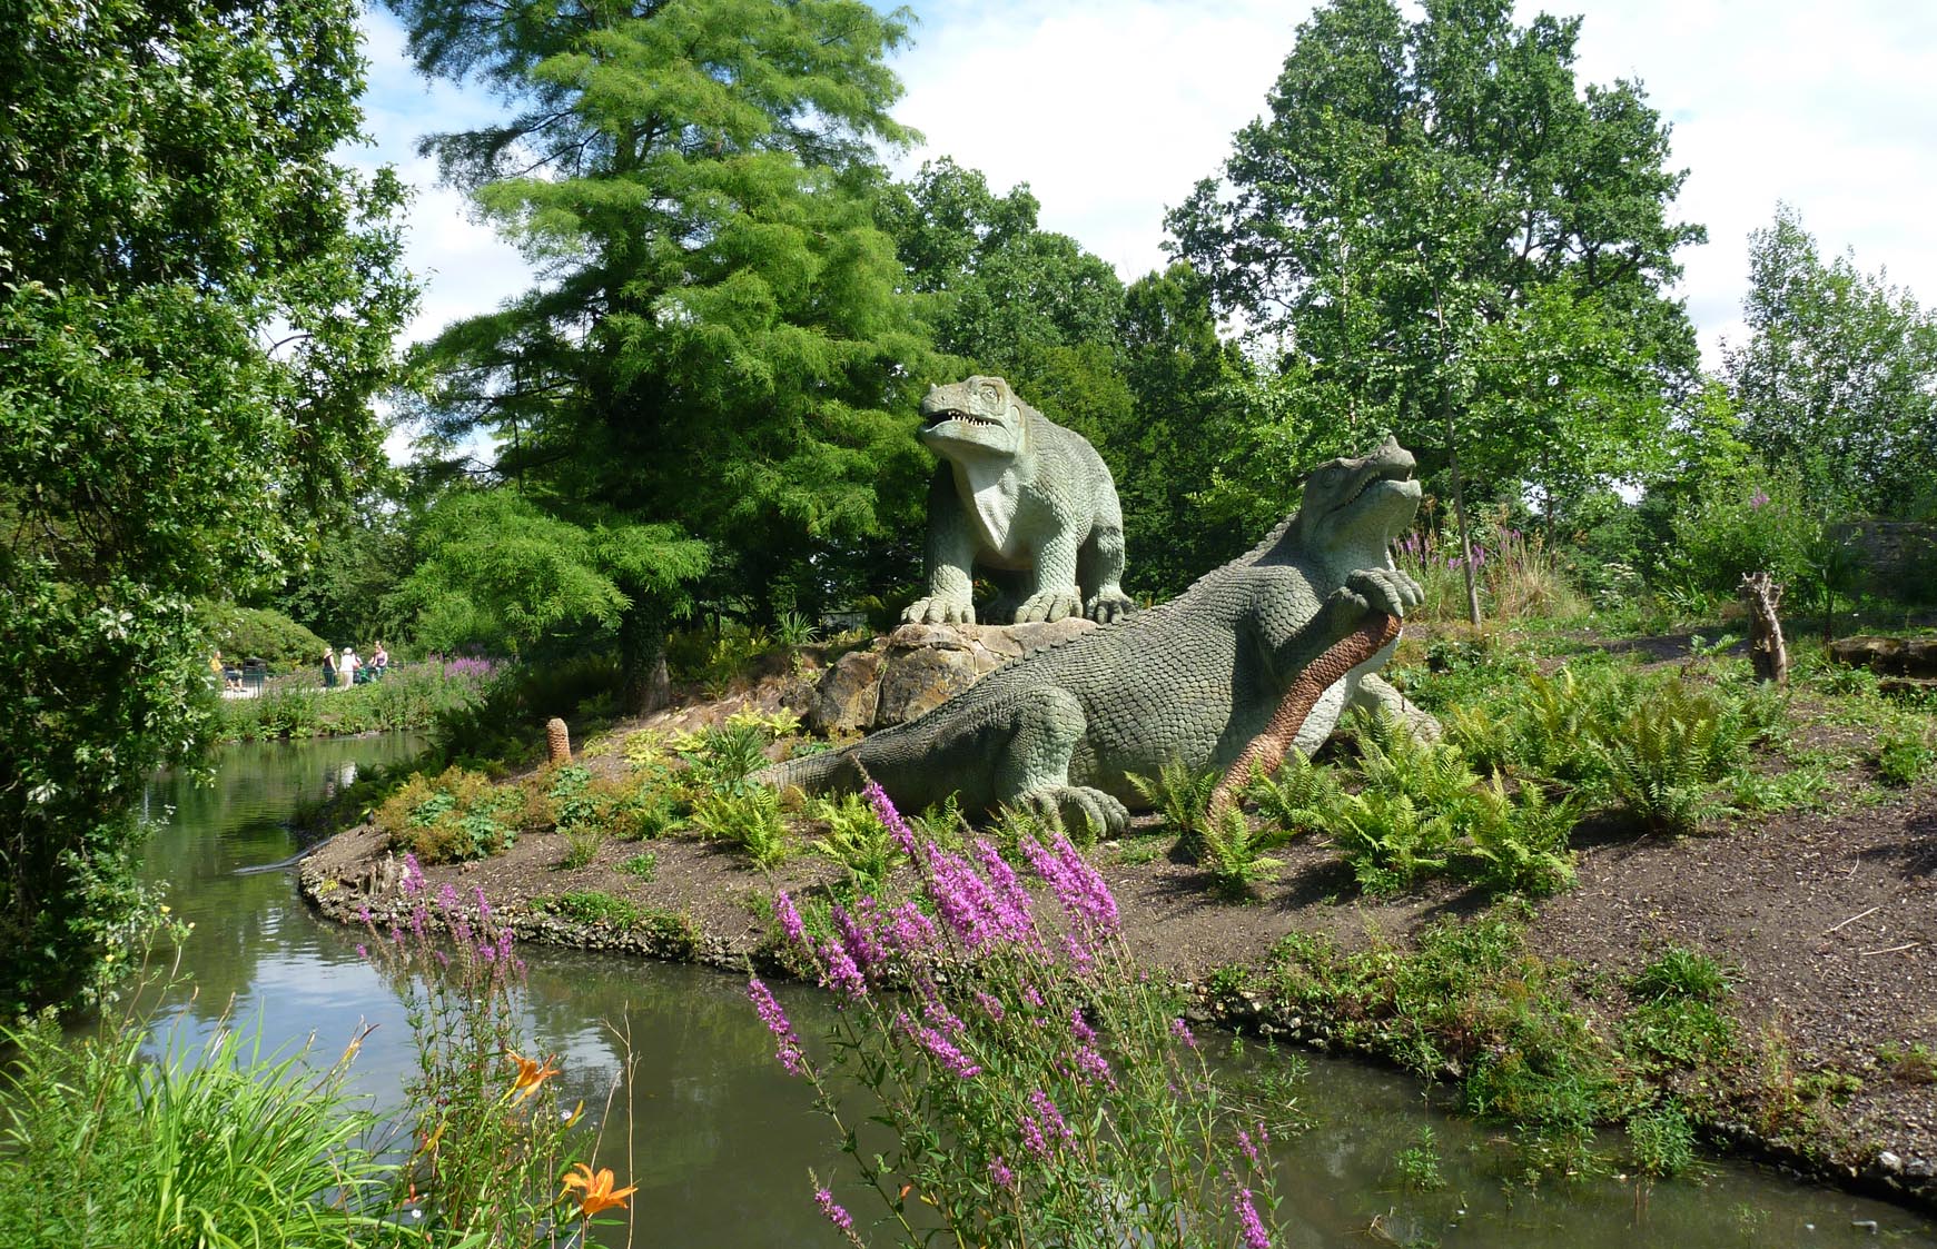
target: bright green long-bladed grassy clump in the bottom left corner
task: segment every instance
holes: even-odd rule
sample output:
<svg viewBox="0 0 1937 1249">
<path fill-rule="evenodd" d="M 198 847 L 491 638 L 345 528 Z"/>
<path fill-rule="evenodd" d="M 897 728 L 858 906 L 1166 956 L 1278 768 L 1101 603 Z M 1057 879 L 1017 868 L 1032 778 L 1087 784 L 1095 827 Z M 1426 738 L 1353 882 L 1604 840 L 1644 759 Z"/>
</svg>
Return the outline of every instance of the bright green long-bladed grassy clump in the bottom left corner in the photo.
<svg viewBox="0 0 1937 1249">
<path fill-rule="evenodd" d="M 194 1046 L 112 1015 L 74 1042 L 0 1030 L 0 1237 L 10 1245 L 279 1249 L 354 1241 L 389 1170 L 364 1144 L 351 1059 L 263 1055 L 223 1019 Z"/>
</svg>

